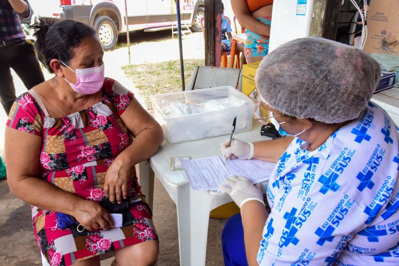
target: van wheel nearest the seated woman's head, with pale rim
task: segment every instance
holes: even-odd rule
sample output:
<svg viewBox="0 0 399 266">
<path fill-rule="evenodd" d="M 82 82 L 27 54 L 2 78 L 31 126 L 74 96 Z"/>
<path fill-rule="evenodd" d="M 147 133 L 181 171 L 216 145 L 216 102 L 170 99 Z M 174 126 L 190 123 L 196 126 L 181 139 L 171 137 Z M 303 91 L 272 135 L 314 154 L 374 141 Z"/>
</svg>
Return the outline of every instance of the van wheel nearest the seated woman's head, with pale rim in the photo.
<svg viewBox="0 0 399 266">
<path fill-rule="evenodd" d="M 97 16 L 93 28 L 105 51 L 111 50 L 118 42 L 118 30 L 115 22 L 108 16 Z"/>
</svg>

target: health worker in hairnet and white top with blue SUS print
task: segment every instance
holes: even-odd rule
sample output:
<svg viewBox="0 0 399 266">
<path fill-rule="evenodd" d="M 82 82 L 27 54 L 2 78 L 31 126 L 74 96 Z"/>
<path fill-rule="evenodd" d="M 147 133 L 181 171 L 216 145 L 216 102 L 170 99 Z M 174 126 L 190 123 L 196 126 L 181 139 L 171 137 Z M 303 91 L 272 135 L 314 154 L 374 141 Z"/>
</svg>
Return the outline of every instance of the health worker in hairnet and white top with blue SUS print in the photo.
<svg viewBox="0 0 399 266">
<path fill-rule="evenodd" d="M 322 38 L 263 59 L 263 122 L 287 136 L 221 143 L 227 157 L 276 162 L 266 191 L 234 176 L 221 187 L 241 209 L 223 230 L 225 265 L 399 265 L 399 135 L 370 102 L 380 75 L 365 52 Z"/>
</svg>

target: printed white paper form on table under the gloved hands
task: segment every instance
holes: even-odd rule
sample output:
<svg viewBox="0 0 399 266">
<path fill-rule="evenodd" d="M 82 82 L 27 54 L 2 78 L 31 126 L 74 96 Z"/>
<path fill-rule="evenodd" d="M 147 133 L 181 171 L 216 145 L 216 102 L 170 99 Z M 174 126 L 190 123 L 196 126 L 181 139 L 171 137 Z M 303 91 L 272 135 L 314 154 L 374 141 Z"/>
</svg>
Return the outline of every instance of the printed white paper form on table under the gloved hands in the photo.
<svg viewBox="0 0 399 266">
<path fill-rule="evenodd" d="M 218 191 L 219 185 L 230 175 L 245 176 L 252 184 L 268 180 L 275 165 L 256 159 L 225 161 L 223 156 L 181 159 L 181 163 L 193 189 Z"/>
</svg>

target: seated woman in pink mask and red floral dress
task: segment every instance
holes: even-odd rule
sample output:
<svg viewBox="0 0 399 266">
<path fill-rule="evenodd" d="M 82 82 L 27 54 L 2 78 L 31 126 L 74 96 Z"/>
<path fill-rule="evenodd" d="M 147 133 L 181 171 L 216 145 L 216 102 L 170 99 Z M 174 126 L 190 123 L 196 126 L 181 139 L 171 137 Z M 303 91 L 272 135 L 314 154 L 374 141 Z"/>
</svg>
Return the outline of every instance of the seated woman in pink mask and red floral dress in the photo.
<svg viewBox="0 0 399 266">
<path fill-rule="evenodd" d="M 94 29 L 44 19 L 34 27 L 38 58 L 54 77 L 15 100 L 5 156 L 11 192 L 32 205 L 43 256 L 51 266 L 100 265 L 98 255 L 114 251 L 113 265 L 154 265 L 158 236 L 134 166 L 157 152 L 162 128 L 104 78 Z"/>
</svg>

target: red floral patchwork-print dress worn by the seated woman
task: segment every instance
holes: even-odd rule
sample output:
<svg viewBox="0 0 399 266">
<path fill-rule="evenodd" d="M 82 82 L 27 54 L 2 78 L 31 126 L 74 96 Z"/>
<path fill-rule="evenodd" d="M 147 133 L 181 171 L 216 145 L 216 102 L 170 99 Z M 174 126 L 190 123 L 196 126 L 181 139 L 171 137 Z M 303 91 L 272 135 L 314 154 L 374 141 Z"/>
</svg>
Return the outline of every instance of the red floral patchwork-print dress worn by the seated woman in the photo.
<svg viewBox="0 0 399 266">
<path fill-rule="evenodd" d="M 120 115 L 133 94 L 105 78 L 102 101 L 62 118 L 45 117 L 28 93 L 11 108 L 7 126 L 43 138 L 40 178 L 83 199 L 101 202 L 105 173 L 114 158 L 129 145 L 129 134 Z M 51 266 L 73 265 L 93 256 L 158 239 L 151 210 L 140 191 L 135 169 L 128 183 L 130 209 L 123 227 L 82 233 L 63 228 L 57 213 L 32 206 L 37 245 Z"/>
</svg>

